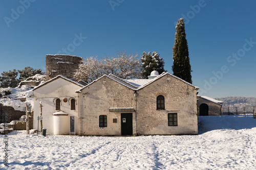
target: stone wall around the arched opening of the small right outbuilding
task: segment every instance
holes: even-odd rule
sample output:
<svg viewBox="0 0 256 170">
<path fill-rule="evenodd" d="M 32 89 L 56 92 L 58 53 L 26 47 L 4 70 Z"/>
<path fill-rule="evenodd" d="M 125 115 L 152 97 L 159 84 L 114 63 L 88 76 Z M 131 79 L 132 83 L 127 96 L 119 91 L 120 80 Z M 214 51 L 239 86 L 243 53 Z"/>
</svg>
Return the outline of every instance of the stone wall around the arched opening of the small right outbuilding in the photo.
<svg viewBox="0 0 256 170">
<path fill-rule="evenodd" d="M 199 112 L 199 107 L 201 104 L 205 103 L 208 105 L 209 107 L 209 115 L 221 115 L 222 113 L 222 105 L 216 104 L 214 102 L 202 99 L 200 97 L 197 97 L 198 99 L 198 112 Z M 200 116 L 200 112 L 199 112 L 199 116 Z"/>
</svg>

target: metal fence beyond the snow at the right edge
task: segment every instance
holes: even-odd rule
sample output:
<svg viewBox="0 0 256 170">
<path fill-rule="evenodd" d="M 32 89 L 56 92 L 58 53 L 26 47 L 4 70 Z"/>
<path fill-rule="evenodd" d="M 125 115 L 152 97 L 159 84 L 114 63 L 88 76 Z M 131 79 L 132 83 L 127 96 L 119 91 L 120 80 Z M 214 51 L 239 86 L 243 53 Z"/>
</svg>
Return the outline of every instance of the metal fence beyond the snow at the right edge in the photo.
<svg viewBox="0 0 256 170">
<path fill-rule="evenodd" d="M 256 106 L 223 106 L 223 115 L 230 114 L 254 114 Z"/>
</svg>

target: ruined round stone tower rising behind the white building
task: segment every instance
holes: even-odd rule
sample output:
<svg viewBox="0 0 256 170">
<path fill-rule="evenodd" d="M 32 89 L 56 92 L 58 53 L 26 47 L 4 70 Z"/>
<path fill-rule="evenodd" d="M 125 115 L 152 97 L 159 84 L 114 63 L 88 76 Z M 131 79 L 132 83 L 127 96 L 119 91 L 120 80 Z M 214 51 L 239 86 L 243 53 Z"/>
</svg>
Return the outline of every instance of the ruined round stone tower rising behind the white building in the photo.
<svg viewBox="0 0 256 170">
<path fill-rule="evenodd" d="M 74 72 L 78 65 L 82 63 L 82 58 L 70 55 L 46 55 L 46 81 L 62 75 L 73 79 Z"/>
</svg>

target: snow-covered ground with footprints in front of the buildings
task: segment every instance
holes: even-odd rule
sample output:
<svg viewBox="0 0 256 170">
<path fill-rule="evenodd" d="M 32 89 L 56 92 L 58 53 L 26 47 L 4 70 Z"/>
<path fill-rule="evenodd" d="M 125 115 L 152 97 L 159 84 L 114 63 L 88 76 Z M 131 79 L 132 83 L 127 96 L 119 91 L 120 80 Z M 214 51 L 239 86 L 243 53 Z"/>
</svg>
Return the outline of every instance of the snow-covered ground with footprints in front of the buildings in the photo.
<svg viewBox="0 0 256 170">
<path fill-rule="evenodd" d="M 256 119 L 199 117 L 199 135 L 0 135 L 0 169 L 256 169 Z"/>
</svg>

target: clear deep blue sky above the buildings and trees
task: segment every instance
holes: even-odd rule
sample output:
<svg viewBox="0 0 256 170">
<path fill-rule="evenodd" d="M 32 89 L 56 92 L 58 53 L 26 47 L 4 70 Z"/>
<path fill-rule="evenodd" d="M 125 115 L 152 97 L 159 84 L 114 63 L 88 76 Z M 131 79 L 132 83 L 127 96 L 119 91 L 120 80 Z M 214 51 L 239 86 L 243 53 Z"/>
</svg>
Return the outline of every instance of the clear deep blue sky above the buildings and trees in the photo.
<svg viewBox="0 0 256 170">
<path fill-rule="evenodd" d="M 256 97 L 255 1 L 1 1 L 0 73 L 45 70 L 45 55 L 156 51 L 173 73 L 184 17 L 193 84 L 211 98 Z M 65 50 L 66 49 L 66 50 Z"/>
</svg>

